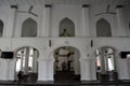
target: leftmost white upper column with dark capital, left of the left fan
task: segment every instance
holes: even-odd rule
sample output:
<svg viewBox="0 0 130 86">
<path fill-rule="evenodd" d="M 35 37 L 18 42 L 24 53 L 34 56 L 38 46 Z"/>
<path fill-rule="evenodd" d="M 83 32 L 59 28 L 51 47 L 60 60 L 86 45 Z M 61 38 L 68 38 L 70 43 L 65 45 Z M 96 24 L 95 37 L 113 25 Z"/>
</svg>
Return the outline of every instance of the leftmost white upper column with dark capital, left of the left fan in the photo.
<svg viewBox="0 0 130 86">
<path fill-rule="evenodd" d="M 5 35 L 8 38 L 14 37 L 14 30 L 15 30 L 15 20 L 16 20 L 16 5 L 11 5 L 10 10 L 10 16 L 8 22 L 8 28 L 5 30 Z"/>
</svg>

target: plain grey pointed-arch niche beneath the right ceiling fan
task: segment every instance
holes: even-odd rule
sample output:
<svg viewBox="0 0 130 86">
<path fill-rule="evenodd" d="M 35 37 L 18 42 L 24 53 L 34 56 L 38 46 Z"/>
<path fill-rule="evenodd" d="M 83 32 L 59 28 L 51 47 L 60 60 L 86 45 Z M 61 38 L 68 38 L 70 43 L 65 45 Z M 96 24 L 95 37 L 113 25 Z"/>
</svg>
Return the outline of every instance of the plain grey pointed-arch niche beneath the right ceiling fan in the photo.
<svg viewBox="0 0 130 86">
<path fill-rule="evenodd" d="M 110 25 L 104 18 L 96 22 L 96 35 L 98 37 L 112 37 Z"/>
</svg>

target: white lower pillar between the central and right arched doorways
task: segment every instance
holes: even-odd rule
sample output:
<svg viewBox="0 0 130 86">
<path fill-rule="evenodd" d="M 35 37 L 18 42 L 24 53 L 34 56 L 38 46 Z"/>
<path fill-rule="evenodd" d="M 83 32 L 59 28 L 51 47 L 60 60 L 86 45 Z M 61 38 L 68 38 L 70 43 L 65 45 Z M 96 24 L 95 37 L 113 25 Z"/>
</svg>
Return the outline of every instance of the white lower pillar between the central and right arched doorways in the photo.
<svg viewBox="0 0 130 86">
<path fill-rule="evenodd" d="M 81 81 L 91 81 L 90 60 L 80 58 Z"/>
</svg>

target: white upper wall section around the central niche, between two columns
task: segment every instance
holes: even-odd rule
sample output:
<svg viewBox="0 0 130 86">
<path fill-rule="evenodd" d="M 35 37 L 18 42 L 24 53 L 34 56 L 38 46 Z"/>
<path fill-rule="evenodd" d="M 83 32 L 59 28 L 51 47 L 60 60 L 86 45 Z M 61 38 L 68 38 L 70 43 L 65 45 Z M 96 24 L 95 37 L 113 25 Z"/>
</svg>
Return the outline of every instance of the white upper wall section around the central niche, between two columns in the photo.
<svg viewBox="0 0 130 86">
<path fill-rule="evenodd" d="M 51 17 L 51 34 L 52 37 L 58 37 L 60 22 L 67 17 L 75 24 L 76 37 L 81 35 L 80 19 L 81 19 L 81 5 L 52 5 Z"/>
</svg>

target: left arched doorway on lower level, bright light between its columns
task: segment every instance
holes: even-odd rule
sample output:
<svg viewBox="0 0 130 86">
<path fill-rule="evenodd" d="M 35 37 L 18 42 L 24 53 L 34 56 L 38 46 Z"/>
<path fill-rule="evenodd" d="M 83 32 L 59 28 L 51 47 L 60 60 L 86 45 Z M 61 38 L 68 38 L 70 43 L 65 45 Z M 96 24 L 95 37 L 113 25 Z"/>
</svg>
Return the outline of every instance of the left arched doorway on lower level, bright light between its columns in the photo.
<svg viewBox="0 0 130 86">
<path fill-rule="evenodd" d="M 36 48 L 30 46 L 25 46 L 16 51 L 16 68 L 15 68 L 15 78 L 17 74 L 22 71 L 23 82 L 34 82 L 38 78 L 38 56 L 39 53 Z"/>
</svg>

